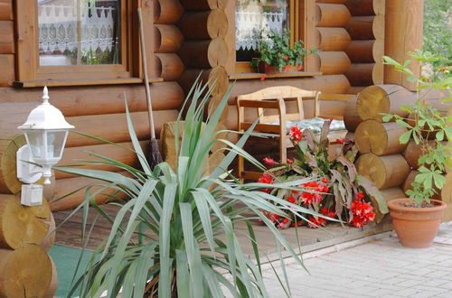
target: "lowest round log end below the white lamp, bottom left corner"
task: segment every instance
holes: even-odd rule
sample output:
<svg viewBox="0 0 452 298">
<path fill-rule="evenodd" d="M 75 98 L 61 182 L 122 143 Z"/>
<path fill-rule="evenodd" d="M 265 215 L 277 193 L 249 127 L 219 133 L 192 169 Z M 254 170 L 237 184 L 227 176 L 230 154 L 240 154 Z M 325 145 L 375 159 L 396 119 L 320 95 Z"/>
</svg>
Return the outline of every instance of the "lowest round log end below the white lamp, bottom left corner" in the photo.
<svg viewBox="0 0 452 298">
<path fill-rule="evenodd" d="M 43 297 L 51 281 L 51 258 L 41 247 L 0 249 L 1 297 Z"/>
</svg>

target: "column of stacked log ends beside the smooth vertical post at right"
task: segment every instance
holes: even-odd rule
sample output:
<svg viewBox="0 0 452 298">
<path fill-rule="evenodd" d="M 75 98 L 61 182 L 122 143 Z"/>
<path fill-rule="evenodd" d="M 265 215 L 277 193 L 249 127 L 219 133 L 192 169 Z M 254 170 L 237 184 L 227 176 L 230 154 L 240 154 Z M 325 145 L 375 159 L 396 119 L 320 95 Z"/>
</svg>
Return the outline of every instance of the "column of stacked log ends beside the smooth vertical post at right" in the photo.
<svg viewBox="0 0 452 298">
<path fill-rule="evenodd" d="M 346 0 L 352 17 L 345 28 L 352 38 L 345 52 L 352 61 L 345 76 L 350 93 L 383 83 L 385 0 Z"/>
</svg>

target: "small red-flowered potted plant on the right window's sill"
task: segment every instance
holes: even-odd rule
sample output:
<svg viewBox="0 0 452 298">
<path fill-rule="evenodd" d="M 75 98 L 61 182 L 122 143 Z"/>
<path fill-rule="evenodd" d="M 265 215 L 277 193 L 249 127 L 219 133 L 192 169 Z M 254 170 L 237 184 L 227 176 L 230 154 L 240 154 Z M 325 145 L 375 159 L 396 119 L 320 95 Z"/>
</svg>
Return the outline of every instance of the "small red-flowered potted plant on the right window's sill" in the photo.
<svg viewBox="0 0 452 298">
<path fill-rule="evenodd" d="M 313 53 L 311 51 L 311 53 Z M 306 49 L 302 41 L 297 41 L 290 47 L 290 33 L 286 29 L 283 33 L 270 31 L 259 42 L 259 58 L 251 61 L 251 66 L 260 73 L 276 73 L 288 71 L 291 67 L 303 70 Z"/>
</svg>

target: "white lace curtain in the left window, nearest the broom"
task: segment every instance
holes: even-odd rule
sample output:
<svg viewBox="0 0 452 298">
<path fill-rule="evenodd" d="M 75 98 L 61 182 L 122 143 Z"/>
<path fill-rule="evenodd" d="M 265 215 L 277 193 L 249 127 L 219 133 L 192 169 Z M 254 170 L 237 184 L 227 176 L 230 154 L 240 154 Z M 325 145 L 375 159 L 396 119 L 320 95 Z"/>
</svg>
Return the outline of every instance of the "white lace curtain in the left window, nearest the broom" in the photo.
<svg viewBox="0 0 452 298">
<path fill-rule="evenodd" d="M 114 36 L 116 7 L 77 7 L 39 5 L 39 47 L 41 51 L 111 51 L 118 42 Z M 80 14 L 80 24 L 78 23 Z M 78 36 L 80 25 L 80 38 Z"/>
</svg>

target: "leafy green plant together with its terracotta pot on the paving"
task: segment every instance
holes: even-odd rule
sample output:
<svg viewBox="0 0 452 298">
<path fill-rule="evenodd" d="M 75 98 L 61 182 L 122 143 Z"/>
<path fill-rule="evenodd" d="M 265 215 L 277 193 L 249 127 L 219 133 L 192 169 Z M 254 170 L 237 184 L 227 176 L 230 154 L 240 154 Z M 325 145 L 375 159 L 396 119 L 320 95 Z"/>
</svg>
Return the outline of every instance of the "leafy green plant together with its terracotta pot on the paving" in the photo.
<svg viewBox="0 0 452 298">
<path fill-rule="evenodd" d="M 437 61 L 429 52 L 416 51 L 410 53 L 411 57 L 425 62 Z M 452 137 L 451 116 L 444 116 L 438 109 L 430 107 L 421 92 L 427 88 L 450 89 L 452 77 L 444 71 L 433 71 L 429 76 L 421 75 L 416 78 L 409 69 L 410 61 L 403 64 L 383 57 L 384 63 L 392 65 L 409 81 L 417 83 L 416 101 L 403 107 L 410 113 L 405 118 L 398 115 L 384 114 L 383 121 L 395 120 L 399 126 L 406 127 L 408 131 L 400 135 L 400 143 L 407 144 L 413 140 L 420 144 L 422 155 L 419 157 L 419 174 L 411 183 L 412 189 L 406 191 L 409 198 L 390 200 L 390 209 L 394 229 L 405 247 L 429 247 L 437 235 L 443 210 L 447 205 L 441 200 L 432 200 L 432 196 L 441 190 L 446 182 L 444 174 L 447 164 L 450 164 L 450 151 L 442 142 Z M 447 99 L 445 99 L 447 100 Z"/>
</svg>

